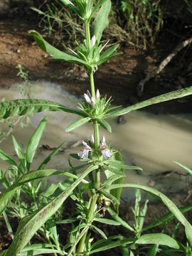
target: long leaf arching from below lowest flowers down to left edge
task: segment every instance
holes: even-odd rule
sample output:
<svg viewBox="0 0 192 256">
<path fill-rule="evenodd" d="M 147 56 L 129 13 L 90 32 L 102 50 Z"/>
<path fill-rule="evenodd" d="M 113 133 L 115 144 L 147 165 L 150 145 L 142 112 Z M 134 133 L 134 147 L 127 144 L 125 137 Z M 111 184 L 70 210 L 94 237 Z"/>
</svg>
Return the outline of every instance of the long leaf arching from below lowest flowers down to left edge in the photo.
<svg viewBox="0 0 192 256">
<path fill-rule="evenodd" d="M 28 183 L 29 181 L 34 181 L 38 178 L 44 178 L 47 176 L 53 176 L 53 175 L 64 175 L 64 176 L 70 176 L 70 171 L 82 169 L 87 164 L 82 164 L 80 166 L 76 166 L 75 168 L 69 168 L 66 171 L 57 171 L 54 169 L 48 169 L 48 170 L 38 170 L 38 171 L 30 171 L 28 174 L 24 174 L 18 179 L 18 182 L 14 183 L 13 185 L 9 186 L 9 188 L 4 191 L 4 193 L 0 196 L 0 216 L 3 213 L 3 211 L 6 209 L 6 206 L 9 204 L 11 199 L 14 197 L 16 191 L 21 188 L 25 183 Z"/>
</svg>

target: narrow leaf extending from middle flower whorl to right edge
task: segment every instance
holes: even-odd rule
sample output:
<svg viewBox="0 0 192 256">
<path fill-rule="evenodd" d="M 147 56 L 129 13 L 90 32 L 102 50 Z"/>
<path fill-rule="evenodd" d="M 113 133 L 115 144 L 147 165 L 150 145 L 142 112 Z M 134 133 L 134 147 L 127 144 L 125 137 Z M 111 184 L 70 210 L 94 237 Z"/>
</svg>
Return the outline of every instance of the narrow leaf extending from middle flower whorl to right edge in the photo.
<svg viewBox="0 0 192 256">
<path fill-rule="evenodd" d="M 178 99 L 180 97 L 185 97 L 185 96 L 188 96 L 188 95 L 191 95 L 191 94 L 192 94 L 192 86 L 186 87 L 186 88 L 181 89 L 181 90 L 176 90 L 174 92 L 168 92 L 164 95 L 153 97 L 149 100 L 144 100 L 143 102 L 139 102 L 139 103 L 134 104 L 132 106 L 125 107 L 122 110 L 116 110 L 114 112 L 111 112 L 110 114 L 106 114 L 105 118 L 106 117 L 117 117 L 117 116 L 122 115 L 122 114 L 127 114 L 127 113 L 129 113 L 133 110 L 139 110 L 143 107 L 154 105 L 154 104 L 157 104 L 157 103 L 160 103 L 160 102 L 166 102 L 168 100 Z"/>
</svg>

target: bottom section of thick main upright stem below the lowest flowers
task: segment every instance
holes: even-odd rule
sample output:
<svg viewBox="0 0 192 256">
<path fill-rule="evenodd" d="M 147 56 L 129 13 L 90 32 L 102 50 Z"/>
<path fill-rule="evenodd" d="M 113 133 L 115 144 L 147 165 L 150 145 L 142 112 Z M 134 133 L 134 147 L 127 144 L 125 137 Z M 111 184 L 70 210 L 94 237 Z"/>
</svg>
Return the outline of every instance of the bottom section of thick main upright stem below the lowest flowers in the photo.
<svg viewBox="0 0 192 256">
<path fill-rule="evenodd" d="M 87 221 L 88 221 L 89 224 L 92 223 L 92 220 L 94 218 L 94 210 L 95 210 L 95 205 L 97 203 L 98 196 L 99 196 L 98 194 L 95 194 L 92 197 L 92 201 L 90 203 L 90 208 L 89 208 L 88 213 L 87 213 Z M 80 254 L 80 252 L 83 252 L 83 250 L 84 250 L 85 239 L 87 237 L 87 231 L 88 230 L 86 230 L 85 234 L 82 236 L 82 238 L 80 240 L 80 244 L 79 244 L 78 250 L 77 250 L 78 254 Z"/>
</svg>

